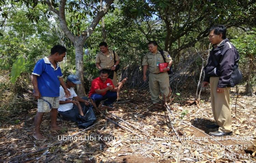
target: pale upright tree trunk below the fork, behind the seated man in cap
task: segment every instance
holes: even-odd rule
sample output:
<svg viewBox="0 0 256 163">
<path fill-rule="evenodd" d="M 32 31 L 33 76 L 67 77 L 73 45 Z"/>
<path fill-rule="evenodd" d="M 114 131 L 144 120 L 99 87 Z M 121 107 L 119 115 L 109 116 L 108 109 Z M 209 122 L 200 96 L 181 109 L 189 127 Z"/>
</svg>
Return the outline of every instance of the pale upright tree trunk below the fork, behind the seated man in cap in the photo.
<svg viewBox="0 0 256 163">
<path fill-rule="evenodd" d="M 84 54 L 83 54 L 83 42 L 77 39 L 74 43 L 75 46 L 75 65 L 76 65 L 76 75 L 81 80 L 82 84 L 76 85 L 77 95 L 80 97 L 85 96 L 84 89 Z"/>
</svg>

